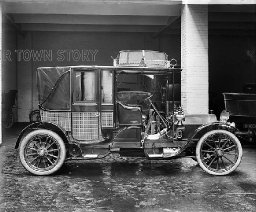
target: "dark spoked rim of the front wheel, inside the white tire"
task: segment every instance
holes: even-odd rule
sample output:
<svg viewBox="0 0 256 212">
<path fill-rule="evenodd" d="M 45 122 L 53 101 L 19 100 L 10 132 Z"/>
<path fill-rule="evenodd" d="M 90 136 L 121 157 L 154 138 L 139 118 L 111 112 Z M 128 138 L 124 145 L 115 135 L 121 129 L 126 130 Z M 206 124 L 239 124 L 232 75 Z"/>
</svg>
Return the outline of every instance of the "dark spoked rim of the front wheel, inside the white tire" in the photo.
<svg viewBox="0 0 256 212">
<path fill-rule="evenodd" d="M 216 174 L 229 172 L 237 166 L 240 149 L 236 137 L 219 131 L 207 136 L 201 144 L 200 160 L 203 166 Z"/>
</svg>

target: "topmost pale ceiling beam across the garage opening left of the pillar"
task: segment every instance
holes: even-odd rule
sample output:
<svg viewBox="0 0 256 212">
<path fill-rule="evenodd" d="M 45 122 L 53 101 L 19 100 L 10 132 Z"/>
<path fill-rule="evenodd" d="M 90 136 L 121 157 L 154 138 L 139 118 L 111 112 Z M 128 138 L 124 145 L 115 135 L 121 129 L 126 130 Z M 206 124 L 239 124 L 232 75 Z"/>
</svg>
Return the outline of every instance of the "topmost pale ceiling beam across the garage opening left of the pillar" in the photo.
<svg viewBox="0 0 256 212">
<path fill-rule="evenodd" d="M 129 16 L 180 16 L 180 4 L 149 3 L 108 4 L 73 1 L 29 1 L 3 4 L 6 13 L 18 14 L 80 14 L 80 15 L 129 15 Z"/>
</svg>

